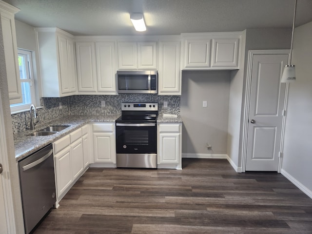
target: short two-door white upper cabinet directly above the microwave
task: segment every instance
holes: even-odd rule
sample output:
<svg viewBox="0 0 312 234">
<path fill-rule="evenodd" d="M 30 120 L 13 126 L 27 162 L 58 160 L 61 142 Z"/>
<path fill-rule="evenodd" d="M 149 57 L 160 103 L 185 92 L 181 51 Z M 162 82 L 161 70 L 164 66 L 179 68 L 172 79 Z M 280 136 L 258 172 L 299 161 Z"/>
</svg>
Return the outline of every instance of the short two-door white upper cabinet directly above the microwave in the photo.
<svg viewBox="0 0 312 234">
<path fill-rule="evenodd" d="M 157 41 L 118 41 L 118 70 L 157 70 Z"/>
</svg>

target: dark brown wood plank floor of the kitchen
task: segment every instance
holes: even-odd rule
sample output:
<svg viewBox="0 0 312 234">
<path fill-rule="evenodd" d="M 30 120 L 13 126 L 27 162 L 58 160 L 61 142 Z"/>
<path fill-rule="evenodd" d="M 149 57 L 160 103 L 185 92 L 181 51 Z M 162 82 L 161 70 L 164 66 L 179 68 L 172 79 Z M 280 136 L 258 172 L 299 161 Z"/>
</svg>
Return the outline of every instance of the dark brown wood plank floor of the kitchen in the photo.
<svg viewBox="0 0 312 234">
<path fill-rule="evenodd" d="M 281 174 L 182 166 L 90 168 L 34 234 L 312 234 L 312 199 Z"/>
</svg>

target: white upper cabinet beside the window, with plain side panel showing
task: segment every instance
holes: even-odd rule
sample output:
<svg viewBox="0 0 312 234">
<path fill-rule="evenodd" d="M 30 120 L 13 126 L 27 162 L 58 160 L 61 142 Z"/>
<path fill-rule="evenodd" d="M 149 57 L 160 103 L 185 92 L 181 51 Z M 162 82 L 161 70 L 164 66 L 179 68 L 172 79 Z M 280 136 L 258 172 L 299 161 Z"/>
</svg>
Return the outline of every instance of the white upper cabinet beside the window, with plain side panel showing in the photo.
<svg viewBox="0 0 312 234">
<path fill-rule="evenodd" d="M 74 37 L 56 27 L 35 28 L 42 96 L 57 98 L 77 91 Z"/>
</svg>

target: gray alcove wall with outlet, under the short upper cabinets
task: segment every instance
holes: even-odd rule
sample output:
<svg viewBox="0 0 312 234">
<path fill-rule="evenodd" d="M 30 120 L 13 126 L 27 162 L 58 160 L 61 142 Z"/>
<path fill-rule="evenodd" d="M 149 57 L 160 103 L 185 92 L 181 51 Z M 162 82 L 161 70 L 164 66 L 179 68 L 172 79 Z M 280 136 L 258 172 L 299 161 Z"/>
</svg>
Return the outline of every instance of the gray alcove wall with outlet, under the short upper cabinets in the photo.
<svg viewBox="0 0 312 234">
<path fill-rule="evenodd" d="M 182 72 L 183 154 L 227 153 L 230 75 L 230 71 Z M 207 150 L 207 142 L 212 150 Z"/>
</svg>

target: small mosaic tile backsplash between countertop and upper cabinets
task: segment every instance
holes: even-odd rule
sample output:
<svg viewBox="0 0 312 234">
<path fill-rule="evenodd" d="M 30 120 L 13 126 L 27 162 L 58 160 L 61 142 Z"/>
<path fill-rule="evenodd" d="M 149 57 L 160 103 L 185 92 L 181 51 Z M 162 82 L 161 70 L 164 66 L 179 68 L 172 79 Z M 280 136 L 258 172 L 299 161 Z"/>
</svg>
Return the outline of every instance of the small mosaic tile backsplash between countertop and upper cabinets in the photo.
<svg viewBox="0 0 312 234">
<path fill-rule="evenodd" d="M 105 107 L 101 107 L 105 101 Z M 168 107 L 163 102 L 168 101 Z M 61 102 L 62 108 L 59 108 Z M 67 115 L 120 115 L 121 102 L 158 102 L 158 113 L 180 114 L 180 96 L 158 96 L 154 94 L 120 94 L 120 95 L 75 95 L 64 98 L 40 98 L 38 123 L 45 124 Z M 34 119 L 36 122 L 37 119 Z M 30 114 L 23 112 L 12 115 L 13 134 L 29 128 Z"/>
</svg>

